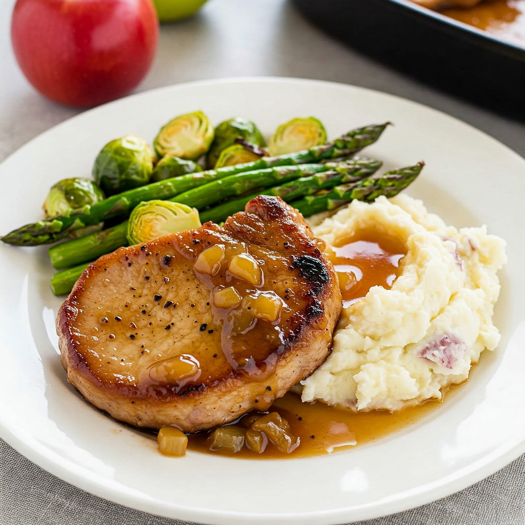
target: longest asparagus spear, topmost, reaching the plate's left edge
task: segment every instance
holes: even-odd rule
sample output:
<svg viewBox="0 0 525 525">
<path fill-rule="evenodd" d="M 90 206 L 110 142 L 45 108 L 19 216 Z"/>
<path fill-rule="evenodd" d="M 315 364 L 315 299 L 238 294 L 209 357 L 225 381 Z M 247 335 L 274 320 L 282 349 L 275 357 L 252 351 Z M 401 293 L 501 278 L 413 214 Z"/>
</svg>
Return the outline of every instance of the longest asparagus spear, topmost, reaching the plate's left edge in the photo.
<svg viewBox="0 0 525 525">
<path fill-rule="evenodd" d="M 193 187 L 206 184 L 210 181 L 236 173 L 265 169 L 273 166 L 306 164 L 319 162 L 323 159 L 337 158 L 356 153 L 365 146 L 372 144 L 381 136 L 388 123 L 370 125 L 358 128 L 342 135 L 333 142 L 314 146 L 309 150 L 297 153 L 265 157 L 246 164 L 225 166 L 218 170 L 209 170 L 191 173 L 167 179 L 166 181 L 148 184 L 127 192 L 113 195 L 98 204 L 85 206 L 82 209 L 67 215 L 53 217 L 49 220 L 40 220 L 37 223 L 27 224 L 2 237 L 4 243 L 18 246 L 36 246 L 53 243 L 69 235 L 70 232 L 91 224 L 98 224 L 119 215 L 129 214 L 142 201 L 151 199 L 169 199 L 190 190 Z"/>
</svg>

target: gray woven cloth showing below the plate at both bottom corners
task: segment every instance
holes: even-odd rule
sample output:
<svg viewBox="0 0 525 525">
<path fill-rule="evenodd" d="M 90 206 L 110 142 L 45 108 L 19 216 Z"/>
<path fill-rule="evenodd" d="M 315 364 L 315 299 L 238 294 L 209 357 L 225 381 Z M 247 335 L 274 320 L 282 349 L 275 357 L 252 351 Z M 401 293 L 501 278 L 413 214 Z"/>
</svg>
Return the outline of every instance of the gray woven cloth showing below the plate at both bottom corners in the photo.
<svg viewBox="0 0 525 525">
<path fill-rule="evenodd" d="M 23 475 L 20 475 L 23 473 Z M 1 525 L 189 525 L 122 507 L 49 474 L 0 440 Z M 525 455 L 430 505 L 360 525 L 525 524 Z"/>
</svg>

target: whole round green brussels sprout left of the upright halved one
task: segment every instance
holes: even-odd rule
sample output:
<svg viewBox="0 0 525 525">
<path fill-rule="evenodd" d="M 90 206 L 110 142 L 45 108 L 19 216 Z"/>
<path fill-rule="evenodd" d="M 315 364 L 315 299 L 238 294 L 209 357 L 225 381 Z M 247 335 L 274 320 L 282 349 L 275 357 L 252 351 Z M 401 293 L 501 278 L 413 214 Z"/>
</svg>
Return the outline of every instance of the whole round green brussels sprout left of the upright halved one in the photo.
<svg viewBox="0 0 525 525">
<path fill-rule="evenodd" d="M 106 195 L 148 184 L 152 172 L 153 151 L 135 135 L 108 142 L 93 165 L 93 177 Z"/>
</svg>

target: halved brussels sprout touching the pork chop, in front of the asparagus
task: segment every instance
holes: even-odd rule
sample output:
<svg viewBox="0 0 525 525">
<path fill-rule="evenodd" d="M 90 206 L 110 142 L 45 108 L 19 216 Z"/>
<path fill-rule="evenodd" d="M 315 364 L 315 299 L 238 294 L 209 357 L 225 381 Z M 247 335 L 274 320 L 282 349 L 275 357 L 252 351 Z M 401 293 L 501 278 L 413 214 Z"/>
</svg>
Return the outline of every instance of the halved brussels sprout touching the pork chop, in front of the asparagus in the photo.
<svg viewBox="0 0 525 525">
<path fill-rule="evenodd" d="M 171 201 L 147 201 L 135 206 L 128 222 L 130 244 L 145 243 L 148 240 L 198 228 L 201 221 L 198 211 L 185 204 Z"/>
</svg>

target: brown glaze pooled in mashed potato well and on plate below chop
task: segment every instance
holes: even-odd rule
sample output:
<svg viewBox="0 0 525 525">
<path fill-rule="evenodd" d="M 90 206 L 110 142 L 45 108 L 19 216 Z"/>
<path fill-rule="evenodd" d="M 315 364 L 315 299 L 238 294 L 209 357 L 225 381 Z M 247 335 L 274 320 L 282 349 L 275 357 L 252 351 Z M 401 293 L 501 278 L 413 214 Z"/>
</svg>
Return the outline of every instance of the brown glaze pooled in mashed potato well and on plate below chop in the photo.
<svg viewBox="0 0 525 525">
<path fill-rule="evenodd" d="M 390 288 L 405 254 L 406 247 L 399 239 L 374 230 L 346 238 L 329 250 L 329 259 L 338 272 L 345 306 L 364 297 L 372 286 Z M 319 402 L 302 403 L 297 394 L 288 392 L 276 400 L 268 411 L 277 412 L 288 422 L 291 434 L 300 440 L 299 446 L 287 453 L 268 443 L 260 454 L 244 446 L 235 454 L 228 455 L 250 459 L 279 459 L 329 454 L 372 442 L 412 425 L 439 404 L 438 401 L 427 402 L 394 414 L 386 411 L 354 413 Z M 247 428 L 255 414 L 257 413 L 247 414 L 232 425 Z M 208 433 L 190 435 L 188 449 L 218 454 L 209 450 Z"/>
</svg>

